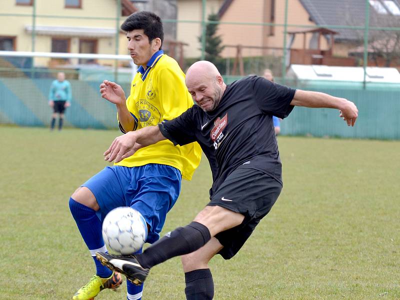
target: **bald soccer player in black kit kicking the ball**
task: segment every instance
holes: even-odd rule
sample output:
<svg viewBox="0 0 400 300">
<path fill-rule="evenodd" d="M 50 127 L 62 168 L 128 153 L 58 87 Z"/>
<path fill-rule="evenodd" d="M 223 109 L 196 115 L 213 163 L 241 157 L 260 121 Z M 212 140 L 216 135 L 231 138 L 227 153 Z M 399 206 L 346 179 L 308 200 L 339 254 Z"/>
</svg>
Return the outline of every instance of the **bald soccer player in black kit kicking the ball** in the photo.
<svg viewBox="0 0 400 300">
<path fill-rule="evenodd" d="M 209 203 L 190 224 L 168 232 L 142 254 L 97 252 L 96 256 L 137 284 L 152 266 L 182 255 L 186 299 L 212 299 L 209 260 L 215 254 L 224 259 L 235 255 L 282 188 L 272 115 L 285 118 L 295 105 L 336 108 L 347 125 L 353 126 L 358 110 L 344 98 L 295 90 L 259 76 L 226 85 L 208 61 L 192 64 L 185 82 L 197 105 L 158 126 L 115 138 L 104 159 L 118 162 L 132 155 L 135 142 L 146 146 L 163 139 L 177 145 L 197 141 L 212 171 Z"/>
</svg>

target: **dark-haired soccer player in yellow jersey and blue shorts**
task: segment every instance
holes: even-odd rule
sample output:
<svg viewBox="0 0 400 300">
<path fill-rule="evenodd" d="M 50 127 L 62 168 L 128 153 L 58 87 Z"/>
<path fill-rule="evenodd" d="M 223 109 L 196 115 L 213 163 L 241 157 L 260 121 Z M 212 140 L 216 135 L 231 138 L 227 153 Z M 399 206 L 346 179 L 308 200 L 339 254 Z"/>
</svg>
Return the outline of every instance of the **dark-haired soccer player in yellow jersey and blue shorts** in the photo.
<svg viewBox="0 0 400 300">
<path fill-rule="evenodd" d="M 171 120 L 193 105 L 184 73 L 177 62 L 161 50 L 163 28 L 160 18 L 148 11 L 131 14 L 121 25 L 126 31 L 128 50 L 138 71 L 125 98 L 115 82 L 100 84 L 103 98 L 114 103 L 122 132 Z M 197 143 L 174 146 L 169 140 L 143 147 L 113 166 L 107 166 L 78 187 L 69 199 L 69 208 L 93 257 L 96 274 L 73 296 L 73 300 L 93 299 L 104 288 L 115 289 L 122 280 L 96 260 L 96 251 L 106 251 L 101 220 L 113 208 L 131 206 L 147 222 L 146 242 L 153 243 L 175 203 L 181 177 L 191 179 L 200 162 Z M 139 250 L 138 252 L 141 252 Z M 143 286 L 127 281 L 127 299 L 141 299 Z"/>
</svg>

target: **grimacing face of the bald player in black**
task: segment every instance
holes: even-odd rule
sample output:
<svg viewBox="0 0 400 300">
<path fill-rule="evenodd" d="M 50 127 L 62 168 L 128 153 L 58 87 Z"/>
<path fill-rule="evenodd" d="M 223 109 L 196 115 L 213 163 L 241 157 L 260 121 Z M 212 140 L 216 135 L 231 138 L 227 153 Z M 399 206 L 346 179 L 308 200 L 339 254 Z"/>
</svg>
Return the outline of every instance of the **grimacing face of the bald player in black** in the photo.
<svg viewBox="0 0 400 300">
<path fill-rule="evenodd" d="M 194 78 L 193 78 L 194 77 Z M 212 111 L 218 106 L 223 90 L 222 78 L 205 78 L 192 75 L 186 86 L 194 102 L 204 111 Z"/>
</svg>

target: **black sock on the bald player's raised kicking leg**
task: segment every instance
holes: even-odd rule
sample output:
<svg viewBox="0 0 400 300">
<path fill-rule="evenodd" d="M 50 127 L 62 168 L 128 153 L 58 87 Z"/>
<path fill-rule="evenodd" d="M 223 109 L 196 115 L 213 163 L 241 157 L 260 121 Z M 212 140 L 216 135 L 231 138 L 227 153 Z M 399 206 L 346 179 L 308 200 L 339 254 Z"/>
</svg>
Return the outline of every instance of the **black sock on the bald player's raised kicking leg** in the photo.
<svg viewBox="0 0 400 300">
<path fill-rule="evenodd" d="M 150 268 L 169 258 L 187 254 L 201 248 L 210 240 L 211 235 L 206 226 L 191 222 L 165 234 L 160 240 L 135 255 L 142 267 Z"/>
</svg>

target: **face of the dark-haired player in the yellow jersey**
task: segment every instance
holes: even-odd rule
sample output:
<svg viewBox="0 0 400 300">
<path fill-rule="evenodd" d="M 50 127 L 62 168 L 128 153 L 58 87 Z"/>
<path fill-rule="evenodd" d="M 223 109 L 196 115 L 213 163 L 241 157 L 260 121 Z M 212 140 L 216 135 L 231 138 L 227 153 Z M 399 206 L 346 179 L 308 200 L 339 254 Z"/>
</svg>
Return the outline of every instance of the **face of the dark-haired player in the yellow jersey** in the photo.
<svg viewBox="0 0 400 300">
<path fill-rule="evenodd" d="M 148 41 L 148 36 L 144 34 L 143 29 L 134 29 L 126 33 L 128 39 L 128 50 L 130 57 L 136 65 L 146 66 L 153 53 L 153 43 Z"/>
</svg>

